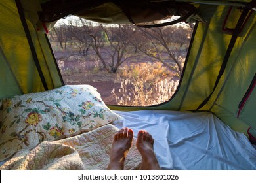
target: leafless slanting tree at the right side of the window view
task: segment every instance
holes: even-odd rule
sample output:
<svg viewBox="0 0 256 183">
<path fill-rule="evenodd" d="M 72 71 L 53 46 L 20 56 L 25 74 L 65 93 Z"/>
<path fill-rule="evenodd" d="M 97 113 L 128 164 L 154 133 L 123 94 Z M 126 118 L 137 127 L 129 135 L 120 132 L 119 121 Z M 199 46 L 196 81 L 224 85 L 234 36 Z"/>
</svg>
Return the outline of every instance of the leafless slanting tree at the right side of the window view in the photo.
<svg viewBox="0 0 256 183">
<path fill-rule="evenodd" d="M 137 27 L 139 35 L 135 46 L 154 61 L 159 61 L 177 76 L 181 76 L 186 54 L 184 44 L 188 44 L 190 30 L 183 27 L 157 27 L 144 29 Z M 147 40 L 147 41 L 146 41 Z"/>
</svg>

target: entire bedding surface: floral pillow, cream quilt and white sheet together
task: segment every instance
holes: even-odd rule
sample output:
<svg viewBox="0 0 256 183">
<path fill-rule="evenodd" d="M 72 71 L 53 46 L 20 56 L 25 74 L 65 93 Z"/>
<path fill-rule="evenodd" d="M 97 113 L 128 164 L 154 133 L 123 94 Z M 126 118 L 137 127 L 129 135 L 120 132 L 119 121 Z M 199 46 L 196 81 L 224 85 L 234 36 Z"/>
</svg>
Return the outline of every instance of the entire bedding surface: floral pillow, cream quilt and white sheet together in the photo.
<svg viewBox="0 0 256 183">
<path fill-rule="evenodd" d="M 140 129 L 161 169 L 256 169 L 255 146 L 211 112 L 112 111 L 88 85 L 2 99 L 0 169 L 106 169 L 121 127 L 135 134 L 125 169 L 140 167 Z"/>
</svg>

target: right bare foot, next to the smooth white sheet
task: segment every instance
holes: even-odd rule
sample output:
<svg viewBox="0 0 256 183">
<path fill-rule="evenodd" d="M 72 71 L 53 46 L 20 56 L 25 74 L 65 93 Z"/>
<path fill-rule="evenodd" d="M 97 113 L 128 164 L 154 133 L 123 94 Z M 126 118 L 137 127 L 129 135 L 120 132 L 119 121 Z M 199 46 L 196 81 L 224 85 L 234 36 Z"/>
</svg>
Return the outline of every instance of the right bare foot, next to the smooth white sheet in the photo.
<svg viewBox="0 0 256 183">
<path fill-rule="evenodd" d="M 137 137 L 136 147 L 142 157 L 142 170 L 158 170 L 160 166 L 153 150 L 154 139 L 145 130 L 140 130 Z"/>
</svg>

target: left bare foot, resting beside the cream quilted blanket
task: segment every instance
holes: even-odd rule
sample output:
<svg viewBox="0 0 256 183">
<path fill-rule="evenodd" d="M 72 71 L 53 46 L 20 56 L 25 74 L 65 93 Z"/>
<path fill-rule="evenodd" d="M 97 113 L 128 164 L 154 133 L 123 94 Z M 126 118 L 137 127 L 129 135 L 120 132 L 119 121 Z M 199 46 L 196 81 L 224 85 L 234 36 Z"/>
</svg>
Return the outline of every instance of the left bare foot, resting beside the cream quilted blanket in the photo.
<svg viewBox="0 0 256 183">
<path fill-rule="evenodd" d="M 122 128 L 114 136 L 114 142 L 110 153 L 108 170 L 123 170 L 125 157 L 131 148 L 133 130 L 128 127 Z"/>
</svg>

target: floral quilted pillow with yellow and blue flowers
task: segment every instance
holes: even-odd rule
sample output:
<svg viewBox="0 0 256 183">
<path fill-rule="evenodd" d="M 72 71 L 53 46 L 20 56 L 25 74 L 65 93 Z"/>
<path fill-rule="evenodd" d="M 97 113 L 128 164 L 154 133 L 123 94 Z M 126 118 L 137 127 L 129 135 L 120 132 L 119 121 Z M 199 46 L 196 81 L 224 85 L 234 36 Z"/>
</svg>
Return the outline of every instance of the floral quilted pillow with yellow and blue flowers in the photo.
<svg viewBox="0 0 256 183">
<path fill-rule="evenodd" d="M 66 85 L 2 99 L 0 161 L 40 142 L 71 137 L 121 119 L 89 85 Z"/>
</svg>

